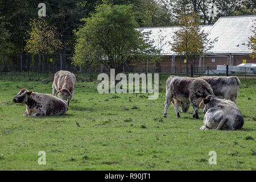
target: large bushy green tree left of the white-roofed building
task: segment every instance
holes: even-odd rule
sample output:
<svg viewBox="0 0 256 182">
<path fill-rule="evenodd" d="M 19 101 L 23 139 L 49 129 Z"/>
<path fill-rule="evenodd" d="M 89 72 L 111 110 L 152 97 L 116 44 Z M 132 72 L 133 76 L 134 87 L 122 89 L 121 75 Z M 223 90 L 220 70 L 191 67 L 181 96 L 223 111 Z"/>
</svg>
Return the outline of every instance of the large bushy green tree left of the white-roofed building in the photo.
<svg viewBox="0 0 256 182">
<path fill-rule="evenodd" d="M 154 55 L 155 49 L 145 42 L 135 27 L 131 5 L 100 5 L 91 18 L 83 19 L 84 27 L 76 32 L 77 43 L 73 63 L 76 65 L 105 65 L 122 72 L 131 56 L 143 60 Z"/>
</svg>

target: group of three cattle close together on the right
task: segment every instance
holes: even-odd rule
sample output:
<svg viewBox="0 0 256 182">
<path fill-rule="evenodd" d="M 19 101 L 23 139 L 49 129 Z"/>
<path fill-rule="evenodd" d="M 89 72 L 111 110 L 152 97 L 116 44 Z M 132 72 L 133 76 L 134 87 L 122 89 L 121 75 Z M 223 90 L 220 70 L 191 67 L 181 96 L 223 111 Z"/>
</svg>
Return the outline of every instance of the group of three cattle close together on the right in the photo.
<svg viewBox="0 0 256 182">
<path fill-rule="evenodd" d="M 201 130 L 237 130 L 243 126 L 243 117 L 236 105 L 240 80 L 236 76 L 205 76 L 200 78 L 170 76 L 166 81 L 164 117 L 172 103 L 176 117 L 179 106 L 187 112 L 193 106 L 193 118 L 198 119 L 199 108 L 204 109 Z"/>
</svg>

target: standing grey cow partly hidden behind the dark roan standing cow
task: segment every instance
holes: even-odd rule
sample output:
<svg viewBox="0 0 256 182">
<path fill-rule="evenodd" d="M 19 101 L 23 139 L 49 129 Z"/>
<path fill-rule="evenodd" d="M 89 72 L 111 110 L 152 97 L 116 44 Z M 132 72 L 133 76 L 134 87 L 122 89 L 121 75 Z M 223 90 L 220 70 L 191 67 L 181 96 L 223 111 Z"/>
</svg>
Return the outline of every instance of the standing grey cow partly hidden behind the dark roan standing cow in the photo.
<svg viewBox="0 0 256 182">
<path fill-rule="evenodd" d="M 175 77 L 175 76 L 171 76 Z M 236 76 L 204 76 L 199 77 L 200 79 L 208 82 L 210 84 L 210 87 L 213 90 L 214 96 L 218 98 L 225 98 L 227 100 L 233 101 L 236 103 L 237 100 L 237 94 L 238 94 L 238 88 L 240 86 L 240 80 Z M 196 79 L 196 78 L 194 78 Z M 176 100 L 172 101 L 172 105 L 178 104 L 181 107 L 181 111 L 183 113 L 186 113 L 189 109 L 189 102 L 181 102 L 178 103 Z M 202 105 L 200 104 L 200 108 Z"/>
</svg>

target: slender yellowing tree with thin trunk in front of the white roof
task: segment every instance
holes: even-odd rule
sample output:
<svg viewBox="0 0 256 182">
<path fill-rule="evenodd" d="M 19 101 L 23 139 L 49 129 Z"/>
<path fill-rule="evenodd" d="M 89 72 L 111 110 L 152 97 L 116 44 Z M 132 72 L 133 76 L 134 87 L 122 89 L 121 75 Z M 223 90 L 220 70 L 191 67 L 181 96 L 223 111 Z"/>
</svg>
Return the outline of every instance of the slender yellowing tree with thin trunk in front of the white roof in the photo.
<svg viewBox="0 0 256 182">
<path fill-rule="evenodd" d="M 172 51 L 185 55 L 192 53 L 204 53 L 213 47 L 216 41 L 208 40 L 208 34 L 201 30 L 199 16 L 193 11 L 187 14 L 180 15 L 180 28 L 174 32 L 174 42 L 170 43 Z M 188 76 L 188 61 L 186 63 L 186 73 Z"/>
</svg>

